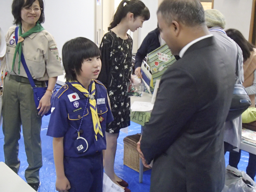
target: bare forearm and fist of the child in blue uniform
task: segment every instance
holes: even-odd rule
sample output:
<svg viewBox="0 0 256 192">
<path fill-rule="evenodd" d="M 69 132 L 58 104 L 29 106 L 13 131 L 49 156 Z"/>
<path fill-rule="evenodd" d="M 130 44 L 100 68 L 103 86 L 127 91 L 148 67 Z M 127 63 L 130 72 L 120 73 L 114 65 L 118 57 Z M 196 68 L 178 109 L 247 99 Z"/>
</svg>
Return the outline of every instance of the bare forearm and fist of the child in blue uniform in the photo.
<svg viewBox="0 0 256 192">
<path fill-rule="evenodd" d="M 53 137 L 53 157 L 56 170 L 56 190 L 59 192 L 68 192 L 70 189 L 70 182 L 64 173 L 64 147 L 63 147 L 64 137 Z"/>
</svg>

